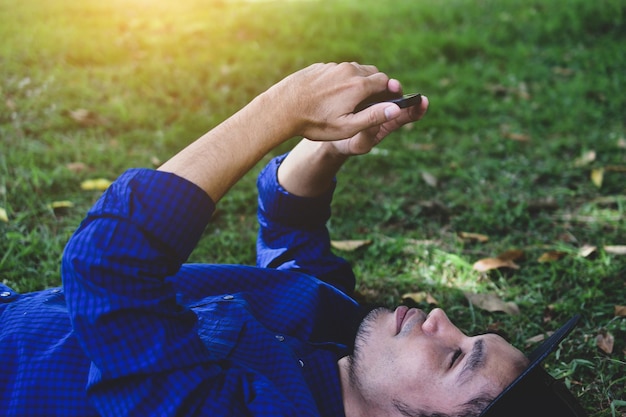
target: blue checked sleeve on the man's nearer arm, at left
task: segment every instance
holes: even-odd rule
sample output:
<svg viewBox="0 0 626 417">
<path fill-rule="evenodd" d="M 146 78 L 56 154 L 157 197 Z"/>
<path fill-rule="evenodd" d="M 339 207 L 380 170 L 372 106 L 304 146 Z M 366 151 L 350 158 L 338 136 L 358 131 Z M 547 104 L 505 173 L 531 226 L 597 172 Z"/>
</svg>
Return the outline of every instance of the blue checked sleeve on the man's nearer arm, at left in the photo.
<svg viewBox="0 0 626 417">
<path fill-rule="evenodd" d="M 174 174 L 130 170 L 68 242 L 63 285 L 74 335 L 91 361 L 87 395 L 100 415 L 290 414 L 260 376 L 225 369 L 206 349 L 197 316 L 177 303 L 166 279 L 214 207 Z M 264 413 L 271 404 L 285 412 Z"/>
</svg>

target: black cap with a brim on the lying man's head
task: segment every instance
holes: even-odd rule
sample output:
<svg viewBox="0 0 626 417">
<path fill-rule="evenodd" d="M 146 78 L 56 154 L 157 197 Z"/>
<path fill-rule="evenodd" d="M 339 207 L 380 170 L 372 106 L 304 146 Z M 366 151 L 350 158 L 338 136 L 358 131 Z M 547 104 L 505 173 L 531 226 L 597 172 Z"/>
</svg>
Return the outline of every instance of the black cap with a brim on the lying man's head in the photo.
<svg viewBox="0 0 626 417">
<path fill-rule="evenodd" d="M 526 369 L 487 406 L 480 416 L 586 417 L 587 413 L 565 385 L 539 366 L 572 331 L 579 319 L 579 315 L 572 317 L 528 355 L 530 362 Z"/>
</svg>

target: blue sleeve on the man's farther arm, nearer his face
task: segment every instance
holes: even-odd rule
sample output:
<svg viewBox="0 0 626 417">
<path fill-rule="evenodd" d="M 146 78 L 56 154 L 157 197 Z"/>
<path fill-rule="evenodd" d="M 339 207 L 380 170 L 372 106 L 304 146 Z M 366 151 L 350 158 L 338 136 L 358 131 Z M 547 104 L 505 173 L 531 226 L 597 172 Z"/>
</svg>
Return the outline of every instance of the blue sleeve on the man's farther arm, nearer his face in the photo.
<svg viewBox="0 0 626 417">
<path fill-rule="evenodd" d="M 278 167 L 285 157 L 286 154 L 272 159 L 257 180 L 257 265 L 307 273 L 351 295 L 354 273 L 345 259 L 332 253 L 326 227 L 335 183 L 315 198 L 290 194 L 277 179 Z"/>
</svg>

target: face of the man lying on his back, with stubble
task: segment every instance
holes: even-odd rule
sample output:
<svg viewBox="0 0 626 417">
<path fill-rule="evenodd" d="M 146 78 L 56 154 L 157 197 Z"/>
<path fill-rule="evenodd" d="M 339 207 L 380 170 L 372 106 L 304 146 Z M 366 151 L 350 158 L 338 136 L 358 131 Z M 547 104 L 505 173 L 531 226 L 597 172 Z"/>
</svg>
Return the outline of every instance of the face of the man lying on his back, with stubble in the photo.
<svg viewBox="0 0 626 417">
<path fill-rule="evenodd" d="M 401 306 L 370 313 L 354 355 L 342 362 L 365 402 L 407 415 L 414 409 L 451 413 L 478 395 L 495 397 L 527 359 L 495 334 L 466 336 L 441 309 L 426 315 Z"/>
</svg>

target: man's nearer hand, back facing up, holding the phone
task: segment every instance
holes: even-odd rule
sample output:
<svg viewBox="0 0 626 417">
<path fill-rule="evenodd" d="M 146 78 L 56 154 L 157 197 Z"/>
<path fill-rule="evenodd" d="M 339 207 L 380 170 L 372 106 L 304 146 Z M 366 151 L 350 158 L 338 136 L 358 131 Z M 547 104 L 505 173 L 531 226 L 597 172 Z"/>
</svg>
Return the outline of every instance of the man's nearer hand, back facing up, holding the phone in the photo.
<svg viewBox="0 0 626 417">
<path fill-rule="evenodd" d="M 314 64 L 285 78 L 267 94 L 270 102 L 280 107 L 281 116 L 275 123 L 290 126 L 292 136 L 315 141 L 337 140 L 369 128 L 380 129 L 402 115 L 400 108 L 390 103 L 354 113 L 359 103 L 384 94 L 389 85 L 399 90 L 397 81 L 389 81 L 386 74 L 372 65 Z"/>
</svg>

